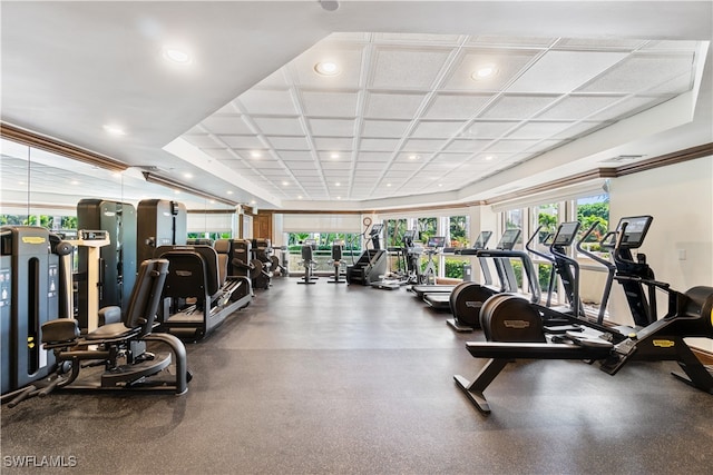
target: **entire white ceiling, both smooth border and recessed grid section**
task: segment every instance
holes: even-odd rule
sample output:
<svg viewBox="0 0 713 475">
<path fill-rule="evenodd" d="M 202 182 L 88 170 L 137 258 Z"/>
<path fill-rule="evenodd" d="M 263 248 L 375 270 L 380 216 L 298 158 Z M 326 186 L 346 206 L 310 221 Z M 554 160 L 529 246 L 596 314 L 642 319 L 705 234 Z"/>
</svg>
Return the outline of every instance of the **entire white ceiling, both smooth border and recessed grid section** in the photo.
<svg viewBox="0 0 713 475">
<path fill-rule="evenodd" d="M 3 1 L 2 120 L 125 162 L 129 200 L 152 191 L 147 170 L 258 208 L 490 199 L 713 141 L 712 14 L 710 1 Z M 3 195 L 21 168 L 6 164 Z M 57 200 L 77 197 L 70 181 Z"/>
</svg>

